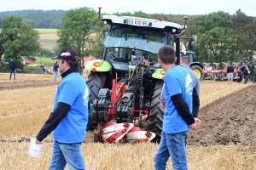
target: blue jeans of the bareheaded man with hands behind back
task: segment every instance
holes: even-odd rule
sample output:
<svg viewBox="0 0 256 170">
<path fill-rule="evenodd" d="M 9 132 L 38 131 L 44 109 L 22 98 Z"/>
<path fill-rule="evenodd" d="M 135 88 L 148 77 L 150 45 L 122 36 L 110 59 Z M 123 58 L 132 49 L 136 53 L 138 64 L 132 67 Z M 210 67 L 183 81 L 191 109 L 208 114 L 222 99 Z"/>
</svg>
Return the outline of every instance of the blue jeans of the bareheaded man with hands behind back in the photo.
<svg viewBox="0 0 256 170">
<path fill-rule="evenodd" d="M 174 170 L 187 170 L 185 138 L 189 131 L 165 133 L 162 131 L 159 148 L 154 156 L 154 169 L 166 169 L 166 162 L 171 156 Z"/>
</svg>

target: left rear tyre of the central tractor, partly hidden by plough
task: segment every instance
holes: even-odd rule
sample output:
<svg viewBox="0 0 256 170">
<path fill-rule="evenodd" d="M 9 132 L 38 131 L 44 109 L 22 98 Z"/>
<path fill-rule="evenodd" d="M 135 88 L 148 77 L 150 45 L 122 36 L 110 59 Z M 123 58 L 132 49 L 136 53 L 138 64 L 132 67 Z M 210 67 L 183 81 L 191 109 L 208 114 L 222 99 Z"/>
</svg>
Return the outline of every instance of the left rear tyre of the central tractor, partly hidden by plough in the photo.
<svg viewBox="0 0 256 170">
<path fill-rule="evenodd" d="M 106 82 L 106 76 L 102 72 L 91 72 L 86 84 L 90 88 L 90 104 L 97 98 L 100 89 Z"/>
</svg>

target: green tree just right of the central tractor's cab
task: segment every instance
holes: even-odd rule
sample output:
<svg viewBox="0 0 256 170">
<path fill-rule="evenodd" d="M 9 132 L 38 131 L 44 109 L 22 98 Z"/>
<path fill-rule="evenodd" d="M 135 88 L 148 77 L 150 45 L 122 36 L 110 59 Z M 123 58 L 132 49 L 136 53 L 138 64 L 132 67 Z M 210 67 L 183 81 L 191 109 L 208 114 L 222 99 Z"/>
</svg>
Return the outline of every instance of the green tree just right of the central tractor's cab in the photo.
<svg viewBox="0 0 256 170">
<path fill-rule="evenodd" d="M 224 62 L 237 60 L 236 42 L 230 29 L 230 14 L 215 12 L 195 17 L 192 32 L 196 34 L 195 52 L 201 62 Z"/>
</svg>

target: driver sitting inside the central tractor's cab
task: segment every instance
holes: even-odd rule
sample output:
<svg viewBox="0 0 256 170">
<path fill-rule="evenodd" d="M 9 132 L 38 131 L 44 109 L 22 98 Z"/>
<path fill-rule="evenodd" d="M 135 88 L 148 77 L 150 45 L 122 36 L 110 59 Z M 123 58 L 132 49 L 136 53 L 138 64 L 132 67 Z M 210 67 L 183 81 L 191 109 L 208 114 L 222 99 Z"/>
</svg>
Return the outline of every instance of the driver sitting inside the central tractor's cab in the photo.
<svg viewBox="0 0 256 170">
<path fill-rule="evenodd" d="M 145 35 L 143 33 L 139 33 L 137 35 L 137 38 L 138 38 L 138 43 L 136 45 L 136 48 L 144 48 L 145 50 L 148 50 L 148 48 L 143 45 L 146 42 Z M 131 63 L 133 65 L 140 64 L 140 65 L 149 66 L 150 62 L 148 59 L 149 59 L 149 54 L 140 49 L 135 49 L 134 55 L 131 55 Z"/>
</svg>

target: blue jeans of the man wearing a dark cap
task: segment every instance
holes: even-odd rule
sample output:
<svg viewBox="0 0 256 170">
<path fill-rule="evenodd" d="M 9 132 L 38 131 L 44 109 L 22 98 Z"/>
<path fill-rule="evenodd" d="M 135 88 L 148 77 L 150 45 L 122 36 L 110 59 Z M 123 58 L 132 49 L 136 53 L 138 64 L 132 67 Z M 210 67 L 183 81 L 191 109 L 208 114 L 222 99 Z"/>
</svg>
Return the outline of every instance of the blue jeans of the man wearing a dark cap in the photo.
<svg viewBox="0 0 256 170">
<path fill-rule="evenodd" d="M 54 140 L 49 170 L 63 170 L 67 166 L 70 170 L 84 169 L 81 144 L 60 144 Z"/>
</svg>

